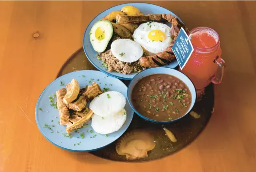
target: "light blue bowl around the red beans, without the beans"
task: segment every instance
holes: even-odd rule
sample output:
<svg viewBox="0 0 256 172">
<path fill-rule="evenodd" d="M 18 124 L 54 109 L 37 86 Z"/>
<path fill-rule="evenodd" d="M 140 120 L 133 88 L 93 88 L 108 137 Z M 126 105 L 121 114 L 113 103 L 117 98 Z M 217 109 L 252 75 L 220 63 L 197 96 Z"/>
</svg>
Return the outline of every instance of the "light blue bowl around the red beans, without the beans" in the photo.
<svg viewBox="0 0 256 172">
<path fill-rule="evenodd" d="M 131 102 L 131 93 L 132 93 L 132 90 L 134 88 L 134 86 L 138 83 L 138 81 L 140 79 L 142 79 L 143 77 L 145 76 L 148 76 L 148 75 L 153 75 L 153 74 L 170 74 L 170 75 L 173 75 L 177 78 L 179 78 L 181 81 L 183 81 L 187 86 L 188 88 L 190 89 L 190 92 L 192 94 L 192 102 L 191 102 L 191 106 L 190 106 L 190 109 L 188 110 L 188 112 L 185 114 L 187 115 L 193 108 L 194 104 L 195 104 L 195 100 L 196 100 L 196 90 L 195 90 L 195 86 L 193 85 L 192 81 L 183 73 L 175 70 L 175 69 L 171 69 L 171 68 L 167 68 L 167 67 L 155 67 L 155 68 L 149 68 L 149 69 L 146 69 L 140 73 L 138 73 L 136 76 L 133 77 L 133 79 L 131 80 L 129 86 L 128 86 L 128 90 L 127 90 L 127 97 L 128 97 L 128 102 L 131 106 L 131 108 L 133 109 L 133 111 L 139 115 L 140 117 L 142 117 L 144 120 L 146 121 L 151 121 L 151 122 L 155 122 L 155 123 L 171 123 L 171 122 L 174 122 L 182 117 L 184 117 L 185 115 L 177 118 L 177 119 L 174 119 L 174 120 L 171 120 L 171 121 L 157 121 L 157 120 L 153 120 L 153 119 L 150 119 L 150 118 L 147 118 L 145 117 L 143 114 L 140 114 L 133 106 L 132 102 Z"/>
</svg>

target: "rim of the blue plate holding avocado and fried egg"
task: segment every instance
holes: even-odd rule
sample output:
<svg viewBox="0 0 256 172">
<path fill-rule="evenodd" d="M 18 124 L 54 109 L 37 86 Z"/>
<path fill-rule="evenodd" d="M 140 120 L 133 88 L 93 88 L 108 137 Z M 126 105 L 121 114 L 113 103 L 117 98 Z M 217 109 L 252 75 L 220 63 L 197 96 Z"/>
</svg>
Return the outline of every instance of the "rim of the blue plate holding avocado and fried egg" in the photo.
<svg viewBox="0 0 256 172">
<path fill-rule="evenodd" d="M 148 5 L 153 5 L 153 6 L 157 6 L 157 7 L 164 8 L 164 7 L 160 6 L 160 5 L 156 5 L 156 4 L 152 4 L 152 3 L 146 3 L 146 2 L 129 2 L 129 3 L 122 3 L 122 4 L 118 4 L 118 5 L 112 6 L 112 7 L 110 7 L 110 8 L 107 8 L 107 9 L 105 9 L 104 11 L 102 11 L 101 13 L 97 14 L 97 15 L 90 21 L 90 23 L 87 25 L 87 27 L 86 27 L 86 29 L 85 29 L 85 31 L 84 31 L 84 33 L 83 33 L 82 44 L 83 44 L 83 51 L 84 51 L 84 53 L 85 53 L 85 56 L 86 56 L 87 59 L 90 61 L 90 63 L 92 63 L 92 64 L 94 65 L 94 67 L 96 67 L 97 70 L 99 70 L 100 72 L 103 72 L 103 73 L 105 73 L 105 74 L 107 74 L 107 75 L 110 75 L 110 76 L 112 76 L 112 77 L 118 78 L 118 79 L 131 81 L 132 78 L 124 78 L 124 77 L 121 77 L 121 76 L 116 76 L 116 75 L 113 75 L 111 72 L 107 72 L 107 71 L 102 70 L 101 68 L 99 68 L 99 67 L 91 60 L 91 58 L 88 57 L 88 54 L 87 54 L 87 52 L 86 52 L 86 50 L 85 50 L 85 44 L 84 44 L 85 33 L 86 33 L 87 29 L 88 29 L 88 26 L 92 23 L 92 21 L 93 21 L 98 15 L 102 14 L 103 12 L 105 12 L 105 11 L 107 11 L 107 10 L 113 8 L 113 7 L 116 7 L 116 6 L 119 6 L 119 5 L 125 5 L 125 4 L 129 4 L 129 5 L 132 5 L 132 4 L 148 4 Z M 164 8 L 164 9 L 166 9 L 166 8 Z M 166 9 L 166 10 L 168 10 L 168 9 Z M 173 13 L 173 12 L 170 11 L 170 10 L 168 10 L 168 11 L 171 12 L 171 13 Z M 173 14 L 175 14 L 175 13 L 173 13 Z M 175 14 L 175 15 L 176 15 L 176 14 Z M 178 15 L 176 15 L 176 16 L 177 16 L 177 18 L 185 25 L 184 21 L 181 20 Z M 185 26 L 186 26 L 186 25 L 185 25 Z M 177 64 L 174 68 L 176 68 L 177 66 L 178 66 L 178 64 Z"/>
</svg>

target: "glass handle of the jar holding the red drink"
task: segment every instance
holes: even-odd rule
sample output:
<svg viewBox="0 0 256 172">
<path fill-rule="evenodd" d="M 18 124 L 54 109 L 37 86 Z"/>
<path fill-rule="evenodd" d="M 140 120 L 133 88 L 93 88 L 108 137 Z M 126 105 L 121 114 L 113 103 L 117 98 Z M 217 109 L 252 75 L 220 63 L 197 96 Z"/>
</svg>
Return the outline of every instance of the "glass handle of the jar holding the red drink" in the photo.
<svg viewBox="0 0 256 172">
<path fill-rule="evenodd" d="M 223 79 L 223 75 L 224 75 L 224 69 L 226 67 L 225 61 L 221 57 L 217 56 L 217 57 L 215 57 L 213 62 L 218 65 L 218 70 L 212 76 L 211 82 L 213 84 L 221 84 L 222 79 Z"/>
</svg>

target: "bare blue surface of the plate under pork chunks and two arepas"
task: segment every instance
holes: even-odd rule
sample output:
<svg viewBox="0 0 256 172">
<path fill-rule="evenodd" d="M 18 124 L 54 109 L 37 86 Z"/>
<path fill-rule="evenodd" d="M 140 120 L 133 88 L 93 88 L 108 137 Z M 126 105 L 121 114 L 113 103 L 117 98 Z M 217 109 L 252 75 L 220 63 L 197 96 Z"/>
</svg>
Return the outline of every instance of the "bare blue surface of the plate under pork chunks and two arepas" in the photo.
<svg viewBox="0 0 256 172">
<path fill-rule="evenodd" d="M 58 89 L 65 87 L 65 85 L 71 82 L 73 78 L 78 80 L 81 88 L 90 85 L 90 82 L 96 82 L 101 89 L 103 87 L 108 87 L 110 90 L 121 92 L 127 98 L 127 86 L 119 79 L 108 76 L 105 73 L 99 71 L 76 71 L 67 73 L 51 82 L 37 100 L 35 119 L 41 133 L 51 143 L 70 151 L 94 151 L 114 142 L 127 130 L 131 123 L 134 112 L 129 106 L 128 101 L 125 105 L 127 111 L 125 124 L 118 131 L 109 134 L 108 137 L 93 131 L 91 120 L 87 123 L 88 127 L 81 128 L 77 133 L 73 132 L 72 138 L 64 137 L 63 133 L 66 133 L 66 126 L 59 125 L 58 109 L 54 109 L 54 107 L 50 106 L 48 96 L 52 96 L 52 93 L 56 94 Z M 90 81 L 91 78 L 93 79 L 92 81 Z M 61 86 L 61 81 L 64 83 L 64 86 Z M 54 100 L 56 101 L 56 98 Z M 42 110 L 39 110 L 39 108 Z M 49 125 L 51 129 L 44 128 L 45 124 Z M 90 130 L 92 130 L 93 133 L 90 133 Z M 84 139 L 80 137 L 80 133 L 84 133 Z"/>
</svg>

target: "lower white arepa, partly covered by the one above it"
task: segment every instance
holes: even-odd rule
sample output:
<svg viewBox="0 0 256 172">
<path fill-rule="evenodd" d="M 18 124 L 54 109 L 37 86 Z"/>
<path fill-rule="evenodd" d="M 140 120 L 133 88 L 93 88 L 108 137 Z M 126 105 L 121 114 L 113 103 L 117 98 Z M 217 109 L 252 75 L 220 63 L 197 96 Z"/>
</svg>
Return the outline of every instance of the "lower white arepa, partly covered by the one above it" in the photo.
<svg viewBox="0 0 256 172">
<path fill-rule="evenodd" d="M 97 133 L 110 134 L 119 130 L 124 125 L 126 117 L 125 109 L 106 117 L 94 114 L 92 117 L 92 128 Z"/>
</svg>

